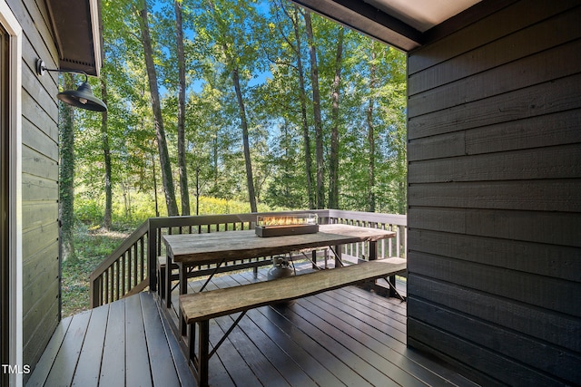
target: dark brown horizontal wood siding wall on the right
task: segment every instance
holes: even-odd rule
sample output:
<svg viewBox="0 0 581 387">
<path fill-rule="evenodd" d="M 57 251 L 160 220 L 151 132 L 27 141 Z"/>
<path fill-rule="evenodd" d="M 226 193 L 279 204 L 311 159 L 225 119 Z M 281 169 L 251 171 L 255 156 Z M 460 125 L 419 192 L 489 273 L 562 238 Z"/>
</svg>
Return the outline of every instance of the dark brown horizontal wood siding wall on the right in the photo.
<svg viewBox="0 0 581 387">
<path fill-rule="evenodd" d="M 408 343 L 478 382 L 581 383 L 581 6 L 409 53 Z"/>
</svg>

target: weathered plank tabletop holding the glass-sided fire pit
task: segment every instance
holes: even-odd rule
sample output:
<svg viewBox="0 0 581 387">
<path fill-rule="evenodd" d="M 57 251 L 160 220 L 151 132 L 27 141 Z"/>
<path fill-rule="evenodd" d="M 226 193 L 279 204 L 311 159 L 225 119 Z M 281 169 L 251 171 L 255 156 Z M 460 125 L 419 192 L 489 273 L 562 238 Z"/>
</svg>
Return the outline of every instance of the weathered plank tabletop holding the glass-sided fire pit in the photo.
<svg viewBox="0 0 581 387">
<path fill-rule="evenodd" d="M 205 264 L 222 259 L 273 256 L 303 248 L 378 241 L 395 237 L 392 231 L 350 225 L 320 225 L 316 234 L 258 237 L 254 230 L 163 236 L 168 256 L 174 262 Z"/>
</svg>

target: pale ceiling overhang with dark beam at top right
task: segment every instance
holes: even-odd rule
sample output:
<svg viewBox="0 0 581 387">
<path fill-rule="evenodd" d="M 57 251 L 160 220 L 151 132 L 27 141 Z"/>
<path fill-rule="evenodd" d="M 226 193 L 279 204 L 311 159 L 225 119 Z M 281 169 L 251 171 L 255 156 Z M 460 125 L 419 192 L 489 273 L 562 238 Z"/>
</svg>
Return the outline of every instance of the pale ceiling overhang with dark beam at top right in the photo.
<svg viewBox="0 0 581 387">
<path fill-rule="evenodd" d="M 481 0 L 293 0 L 403 51 L 419 47 L 430 30 Z M 482 1 L 482 3 L 487 0 Z M 497 3 L 497 0 L 495 0 Z"/>
</svg>

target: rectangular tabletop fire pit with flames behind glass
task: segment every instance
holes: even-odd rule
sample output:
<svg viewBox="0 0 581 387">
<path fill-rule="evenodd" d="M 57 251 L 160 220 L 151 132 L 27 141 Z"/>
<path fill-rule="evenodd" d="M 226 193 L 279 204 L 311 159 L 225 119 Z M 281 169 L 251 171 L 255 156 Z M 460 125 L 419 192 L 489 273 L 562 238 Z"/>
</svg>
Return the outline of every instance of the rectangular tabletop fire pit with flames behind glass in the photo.
<svg viewBox="0 0 581 387">
<path fill-rule="evenodd" d="M 315 234 L 319 232 L 319 225 L 316 214 L 258 216 L 255 231 L 259 237 Z"/>
</svg>

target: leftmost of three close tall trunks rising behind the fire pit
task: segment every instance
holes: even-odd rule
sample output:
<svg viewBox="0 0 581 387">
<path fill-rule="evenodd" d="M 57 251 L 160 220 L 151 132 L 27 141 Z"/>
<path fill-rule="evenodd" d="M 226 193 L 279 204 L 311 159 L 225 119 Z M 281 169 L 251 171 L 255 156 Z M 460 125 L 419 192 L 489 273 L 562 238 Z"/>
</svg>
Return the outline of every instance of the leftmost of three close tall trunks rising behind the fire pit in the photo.
<svg viewBox="0 0 581 387">
<path fill-rule="evenodd" d="M 301 59 L 301 40 L 299 31 L 299 20 L 296 17 L 299 12 L 299 6 L 293 5 L 295 13 L 295 18 L 292 19 L 292 25 L 294 27 L 294 37 L 297 41 L 297 71 L 299 73 L 299 88 L 300 88 L 300 120 L 302 121 L 302 140 L 303 146 L 305 148 L 305 172 L 307 176 L 307 195 L 309 196 L 309 208 L 315 208 L 315 196 L 312 190 L 312 159 L 310 157 L 310 134 L 309 134 L 309 121 L 307 120 L 307 89 L 305 87 L 305 76 L 304 70 L 302 68 Z"/>
</svg>

